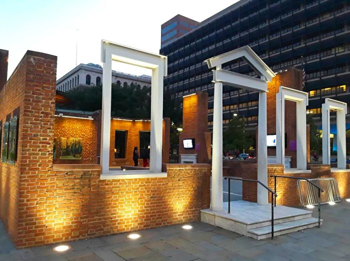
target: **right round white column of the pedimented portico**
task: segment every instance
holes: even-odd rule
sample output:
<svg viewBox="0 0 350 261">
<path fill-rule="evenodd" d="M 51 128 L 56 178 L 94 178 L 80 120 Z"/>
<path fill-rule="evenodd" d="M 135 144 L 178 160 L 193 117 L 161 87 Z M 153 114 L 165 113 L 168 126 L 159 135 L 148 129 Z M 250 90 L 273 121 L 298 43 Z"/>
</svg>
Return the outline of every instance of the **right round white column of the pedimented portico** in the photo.
<svg viewBox="0 0 350 261">
<path fill-rule="evenodd" d="M 267 83 L 266 83 L 267 84 Z M 267 185 L 267 124 L 266 124 L 266 92 L 259 93 L 257 123 L 257 180 Z M 257 203 L 268 204 L 268 191 L 257 184 Z"/>
</svg>

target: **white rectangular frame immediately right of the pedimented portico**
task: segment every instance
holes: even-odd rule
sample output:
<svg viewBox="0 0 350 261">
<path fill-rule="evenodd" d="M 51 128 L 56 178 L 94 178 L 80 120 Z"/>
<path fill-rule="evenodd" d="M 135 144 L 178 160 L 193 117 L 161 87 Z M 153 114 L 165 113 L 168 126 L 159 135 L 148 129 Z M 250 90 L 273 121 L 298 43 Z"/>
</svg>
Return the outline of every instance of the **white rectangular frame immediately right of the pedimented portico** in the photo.
<svg viewBox="0 0 350 261">
<path fill-rule="evenodd" d="M 296 167 L 306 169 L 307 92 L 279 86 L 276 94 L 276 162 L 284 165 L 284 100 L 296 102 Z"/>
</svg>

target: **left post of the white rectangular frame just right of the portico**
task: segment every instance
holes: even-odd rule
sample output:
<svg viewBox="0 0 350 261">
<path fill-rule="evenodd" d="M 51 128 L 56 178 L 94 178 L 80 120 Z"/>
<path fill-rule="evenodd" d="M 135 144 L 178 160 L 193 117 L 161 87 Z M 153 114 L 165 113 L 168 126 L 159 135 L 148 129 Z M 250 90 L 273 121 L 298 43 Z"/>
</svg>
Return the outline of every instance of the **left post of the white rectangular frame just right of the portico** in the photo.
<svg viewBox="0 0 350 261">
<path fill-rule="evenodd" d="M 276 94 L 276 163 L 284 161 L 284 98 L 282 91 Z"/>
</svg>

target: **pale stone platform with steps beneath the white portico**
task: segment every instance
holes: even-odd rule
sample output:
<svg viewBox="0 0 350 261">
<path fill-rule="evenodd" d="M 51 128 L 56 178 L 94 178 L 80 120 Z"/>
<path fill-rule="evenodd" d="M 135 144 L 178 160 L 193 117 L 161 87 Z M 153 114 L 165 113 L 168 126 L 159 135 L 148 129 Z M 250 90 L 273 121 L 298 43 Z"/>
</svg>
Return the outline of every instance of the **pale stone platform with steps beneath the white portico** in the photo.
<svg viewBox="0 0 350 261">
<path fill-rule="evenodd" d="M 223 211 L 200 210 L 202 222 L 224 229 L 264 239 L 271 236 L 271 205 L 238 200 L 230 202 L 231 213 L 227 213 L 228 202 L 224 202 Z M 311 217 L 312 211 L 276 205 L 274 211 L 274 234 L 280 235 L 318 225 Z"/>
</svg>

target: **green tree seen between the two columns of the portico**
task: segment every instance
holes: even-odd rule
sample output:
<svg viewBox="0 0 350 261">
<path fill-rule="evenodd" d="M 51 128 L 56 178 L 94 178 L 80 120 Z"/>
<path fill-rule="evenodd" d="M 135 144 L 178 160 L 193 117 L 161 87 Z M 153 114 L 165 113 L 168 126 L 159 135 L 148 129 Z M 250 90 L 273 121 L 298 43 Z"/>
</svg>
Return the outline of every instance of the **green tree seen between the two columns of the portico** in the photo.
<svg viewBox="0 0 350 261">
<path fill-rule="evenodd" d="M 243 117 L 233 116 L 228 122 L 227 128 L 223 131 L 222 143 L 224 151 L 233 149 L 242 151 L 253 144 L 253 140 L 245 132 L 245 120 Z"/>
</svg>

